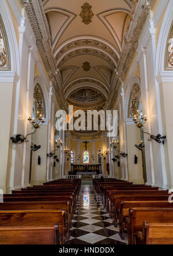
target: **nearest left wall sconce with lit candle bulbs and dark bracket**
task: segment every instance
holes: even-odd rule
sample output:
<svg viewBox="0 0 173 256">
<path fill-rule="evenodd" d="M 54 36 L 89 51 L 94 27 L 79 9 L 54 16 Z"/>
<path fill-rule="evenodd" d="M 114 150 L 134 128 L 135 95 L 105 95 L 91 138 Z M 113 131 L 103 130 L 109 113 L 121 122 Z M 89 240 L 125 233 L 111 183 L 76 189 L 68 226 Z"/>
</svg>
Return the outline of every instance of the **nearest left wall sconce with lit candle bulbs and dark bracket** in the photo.
<svg viewBox="0 0 173 256">
<path fill-rule="evenodd" d="M 10 140 L 12 140 L 12 142 L 14 144 L 22 144 L 24 142 L 28 142 L 27 140 L 27 137 L 31 134 L 34 134 L 36 133 L 36 130 L 38 128 L 40 128 L 40 126 L 43 125 L 44 123 L 44 117 L 42 116 L 42 114 L 39 114 L 39 112 L 37 111 L 37 114 L 36 114 L 36 119 L 31 119 L 31 116 L 29 116 L 28 118 L 28 121 L 29 123 L 31 123 L 32 125 L 32 128 L 34 128 L 34 131 L 33 133 L 28 133 L 27 136 L 24 136 L 22 134 L 16 134 L 16 135 L 13 135 L 13 137 L 10 137 Z M 32 122 L 31 122 L 32 121 Z"/>
</svg>

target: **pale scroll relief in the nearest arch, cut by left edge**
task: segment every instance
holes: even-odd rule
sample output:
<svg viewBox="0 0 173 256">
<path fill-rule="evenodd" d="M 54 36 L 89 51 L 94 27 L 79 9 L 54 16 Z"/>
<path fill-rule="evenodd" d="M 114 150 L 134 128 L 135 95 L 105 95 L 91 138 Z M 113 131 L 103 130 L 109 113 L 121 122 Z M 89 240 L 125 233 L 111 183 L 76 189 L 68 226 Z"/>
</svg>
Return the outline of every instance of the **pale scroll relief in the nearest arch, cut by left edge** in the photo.
<svg viewBox="0 0 173 256">
<path fill-rule="evenodd" d="M 0 70 L 10 70 L 10 54 L 9 45 L 7 43 L 7 37 L 5 27 L 0 15 Z"/>
</svg>

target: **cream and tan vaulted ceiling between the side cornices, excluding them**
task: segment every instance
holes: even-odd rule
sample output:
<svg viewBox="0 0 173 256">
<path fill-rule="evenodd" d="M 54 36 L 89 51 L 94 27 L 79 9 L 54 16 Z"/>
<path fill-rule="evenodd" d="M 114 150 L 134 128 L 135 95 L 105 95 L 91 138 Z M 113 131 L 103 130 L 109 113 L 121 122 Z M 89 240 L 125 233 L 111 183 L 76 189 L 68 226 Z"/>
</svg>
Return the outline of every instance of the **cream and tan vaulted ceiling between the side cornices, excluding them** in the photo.
<svg viewBox="0 0 173 256">
<path fill-rule="evenodd" d="M 131 1 L 45 0 L 43 6 L 66 100 L 78 89 L 95 88 L 107 101 Z"/>
</svg>

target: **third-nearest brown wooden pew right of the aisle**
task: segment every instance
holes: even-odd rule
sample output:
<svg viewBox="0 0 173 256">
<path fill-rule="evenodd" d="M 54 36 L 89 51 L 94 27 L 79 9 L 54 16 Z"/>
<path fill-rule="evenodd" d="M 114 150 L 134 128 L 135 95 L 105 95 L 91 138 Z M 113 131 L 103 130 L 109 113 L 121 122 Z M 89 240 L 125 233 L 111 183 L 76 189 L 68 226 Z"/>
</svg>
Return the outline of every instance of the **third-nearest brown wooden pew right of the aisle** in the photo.
<svg viewBox="0 0 173 256">
<path fill-rule="evenodd" d="M 119 209 L 119 233 L 121 238 L 124 240 L 125 239 L 125 221 L 126 217 L 129 215 L 129 209 L 130 208 L 172 208 L 173 209 L 173 204 L 169 203 L 167 200 L 166 201 L 123 201 L 121 200 L 120 203 L 120 209 Z"/>
</svg>

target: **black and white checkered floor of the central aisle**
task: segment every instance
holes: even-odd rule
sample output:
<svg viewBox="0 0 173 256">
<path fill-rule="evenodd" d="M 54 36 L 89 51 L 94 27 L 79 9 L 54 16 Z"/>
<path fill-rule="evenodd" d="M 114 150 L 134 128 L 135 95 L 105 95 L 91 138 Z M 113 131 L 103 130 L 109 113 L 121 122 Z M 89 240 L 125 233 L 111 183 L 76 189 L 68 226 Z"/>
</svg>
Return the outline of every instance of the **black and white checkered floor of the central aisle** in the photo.
<svg viewBox="0 0 173 256">
<path fill-rule="evenodd" d="M 112 224 L 92 185 L 81 187 L 70 235 L 67 244 L 127 244 L 127 236 L 121 240 L 119 227 Z"/>
</svg>

